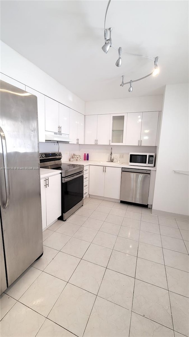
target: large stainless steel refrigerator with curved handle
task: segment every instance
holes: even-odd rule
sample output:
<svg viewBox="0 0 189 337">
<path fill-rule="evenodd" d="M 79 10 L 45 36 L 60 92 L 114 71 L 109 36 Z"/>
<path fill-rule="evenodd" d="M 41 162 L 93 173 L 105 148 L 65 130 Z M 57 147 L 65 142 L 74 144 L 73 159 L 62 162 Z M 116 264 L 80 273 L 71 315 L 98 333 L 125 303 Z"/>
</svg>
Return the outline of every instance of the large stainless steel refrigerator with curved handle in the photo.
<svg viewBox="0 0 189 337">
<path fill-rule="evenodd" d="M 37 97 L 0 81 L 2 293 L 43 254 Z"/>
</svg>

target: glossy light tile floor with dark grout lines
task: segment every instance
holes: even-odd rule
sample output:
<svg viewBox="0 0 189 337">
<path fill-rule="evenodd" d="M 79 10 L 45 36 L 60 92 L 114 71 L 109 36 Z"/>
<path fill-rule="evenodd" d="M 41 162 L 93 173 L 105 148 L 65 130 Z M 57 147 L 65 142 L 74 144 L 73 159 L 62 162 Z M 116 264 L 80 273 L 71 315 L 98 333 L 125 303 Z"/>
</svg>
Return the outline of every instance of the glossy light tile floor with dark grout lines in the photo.
<svg viewBox="0 0 189 337">
<path fill-rule="evenodd" d="M 87 198 L 1 295 L 1 337 L 189 336 L 189 223 Z"/>
</svg>

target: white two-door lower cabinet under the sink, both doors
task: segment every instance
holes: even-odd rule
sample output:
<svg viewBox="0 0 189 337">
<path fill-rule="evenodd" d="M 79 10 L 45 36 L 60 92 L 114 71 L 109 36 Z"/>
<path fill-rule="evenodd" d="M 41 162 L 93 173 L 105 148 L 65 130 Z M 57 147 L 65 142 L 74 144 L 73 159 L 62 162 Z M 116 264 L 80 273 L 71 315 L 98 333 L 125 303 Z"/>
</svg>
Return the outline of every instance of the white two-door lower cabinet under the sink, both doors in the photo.
<svg viewBox="0 0 189 337">
<path fill-rule="evenodd" d="M 90 166 L 89 194 L 120 199 L 121 167 Z"/>
</svg>

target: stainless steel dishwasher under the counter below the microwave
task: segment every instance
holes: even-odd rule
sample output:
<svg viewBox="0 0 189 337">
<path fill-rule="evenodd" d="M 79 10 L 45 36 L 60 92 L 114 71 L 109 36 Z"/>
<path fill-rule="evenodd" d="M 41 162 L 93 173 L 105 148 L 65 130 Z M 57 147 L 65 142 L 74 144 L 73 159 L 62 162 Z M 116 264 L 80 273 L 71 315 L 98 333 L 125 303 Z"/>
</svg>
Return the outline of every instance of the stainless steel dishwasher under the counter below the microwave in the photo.
<svg viewBox="0 0 189 337">
<path fill-rule="evenodd" d="M 120 200 L 148 205 L 150 170 L 122 168 Z"/>
</svg>

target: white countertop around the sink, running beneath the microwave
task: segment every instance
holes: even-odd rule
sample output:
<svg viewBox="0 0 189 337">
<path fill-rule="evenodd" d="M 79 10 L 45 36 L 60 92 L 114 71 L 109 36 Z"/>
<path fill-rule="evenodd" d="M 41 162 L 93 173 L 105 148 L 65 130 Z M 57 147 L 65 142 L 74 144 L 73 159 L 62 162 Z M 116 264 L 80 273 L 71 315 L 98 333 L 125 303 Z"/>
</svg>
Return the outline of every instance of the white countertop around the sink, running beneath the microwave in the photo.
<svg viewBox="0 0 189 337">
<path fill-rule="evenodd" d="M 106 164 L 105 164 L 106 163 Z M 150 166 L 134 166 L 134 165 L 129 165 L 128 163 L 122 163 L 120 161 L 119 164 L 116 163 L 109 163 L 106 161 L 98 161 L 98 160 L 82 160 L 82 161 L 64 161 L 64 164 L 79 164 L 79 165 L 98 165 L 98 166 L 110 166 L 110 167 L 125 167 L 125 168 L 139 168 L 142 170 L 152 170 L 156 171 L 156 167 L 150 167 Z"/>
</svg>

